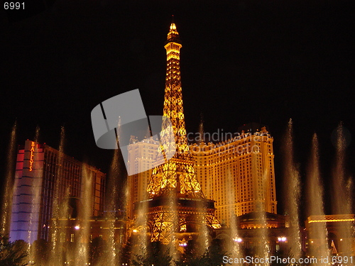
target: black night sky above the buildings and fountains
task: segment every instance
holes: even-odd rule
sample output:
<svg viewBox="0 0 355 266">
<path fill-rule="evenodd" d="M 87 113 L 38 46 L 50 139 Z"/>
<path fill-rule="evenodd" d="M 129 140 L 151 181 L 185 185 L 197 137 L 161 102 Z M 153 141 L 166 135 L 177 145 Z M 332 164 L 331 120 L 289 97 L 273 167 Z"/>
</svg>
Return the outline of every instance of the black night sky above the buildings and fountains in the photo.
<svg viewBox="0 0 355 266">
<path fill-rule="evenodd" d="M 18 144 L 33 139 L 40 126 L 40 142 L 58 148 L 65 126 L 65 153 L 107 172 L 112 151 L 95 145 L 90 113 L 132 89 L 140 89 L 148 115 L 163 113 L 163 45 L 174 15 L 187 132 L 198 131 L 200 113 L 209 133 L 268 125 L 279 213 L 280 146 L 290 118 L 302 180 L 317 133 L 329 189 L 332 132 L 340 121 L 349 131 L 346 169 L 355 173 L 351 1 L 35 2 L 26 1 L 23 13 L 4 13 L 1 5 L 1 162 L 17 121 Z"/>
</svg>

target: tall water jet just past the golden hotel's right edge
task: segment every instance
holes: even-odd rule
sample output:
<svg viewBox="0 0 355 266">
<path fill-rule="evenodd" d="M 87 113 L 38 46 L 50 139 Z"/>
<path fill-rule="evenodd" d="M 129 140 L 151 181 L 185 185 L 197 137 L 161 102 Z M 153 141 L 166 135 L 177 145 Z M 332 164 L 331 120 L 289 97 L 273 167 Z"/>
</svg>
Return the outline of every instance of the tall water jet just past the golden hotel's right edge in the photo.
<svg viewBox="0 0 355 266">
<path fill-rule="evenodd" d="M 296 260 L 301 256 L 299 201 L 300 201 L 300 173 L 293 158 L 293 122 L 288 122 L 288 130 L 283 140 L 284 156 L 284 184 L 285 184 L 285 210 L 290 217 L 290 256 Z"/>
</svg>

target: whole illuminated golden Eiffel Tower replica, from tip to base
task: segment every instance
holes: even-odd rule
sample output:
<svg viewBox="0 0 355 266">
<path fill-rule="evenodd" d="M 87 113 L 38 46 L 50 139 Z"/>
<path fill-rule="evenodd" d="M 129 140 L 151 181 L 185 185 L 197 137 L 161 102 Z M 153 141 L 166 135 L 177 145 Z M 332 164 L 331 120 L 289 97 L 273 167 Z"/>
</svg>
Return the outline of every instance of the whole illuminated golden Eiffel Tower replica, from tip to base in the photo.
<svg viewBox="0 0 355 266">
<path fill-rule="evenodd" d="M 171 23 L 168 40 L 165 43 L 167 67 L 165 79 L 165 99 L 163 116 L 170 118 L 175 139 L 160 133 L 159 154 L 165 156 L 168 145 L 176 145 L 176 153 L 168 161 L 157 161 L 151 181 L 148 184 L 147 219 L 151 242 L 163 244 L 175 240 L 188 240 L 191 235 L 199 235 L 220 228 L 214 216 L 214 201 L 205 199 L 195 174 L 195 160 L 187 145 L 185 118 L 182 109 L 180 77 L 180 48 L 182 47 L 175 23 Z M 171 135 L 170 135 L 171 136 Z M 175 150 L 174 150 L 175 151 Z M 143 203 L 143 201 L 141 201 Z M 204 227 L 204 228 L 202 228 Z"/>
</svg>

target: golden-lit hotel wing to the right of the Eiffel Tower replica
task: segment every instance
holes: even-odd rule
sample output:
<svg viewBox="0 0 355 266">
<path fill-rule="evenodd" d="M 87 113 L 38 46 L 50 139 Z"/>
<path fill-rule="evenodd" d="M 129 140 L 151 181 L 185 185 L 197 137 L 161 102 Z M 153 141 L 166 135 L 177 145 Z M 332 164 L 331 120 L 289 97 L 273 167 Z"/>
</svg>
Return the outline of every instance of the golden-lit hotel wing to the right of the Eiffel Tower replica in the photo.
<svg viewBox="0 0 355 266">
<path fill-rule="evenodd" d="M 226 226 L 231 217 L 266 211 L 276 214 L 273 137 L 251 123 L 220 143 L 190 145 L 202 191 L 216 201 L 216 215 Z"/>
</svg>

